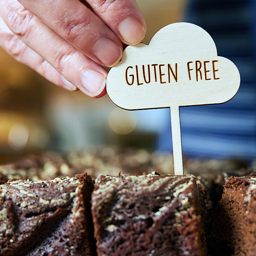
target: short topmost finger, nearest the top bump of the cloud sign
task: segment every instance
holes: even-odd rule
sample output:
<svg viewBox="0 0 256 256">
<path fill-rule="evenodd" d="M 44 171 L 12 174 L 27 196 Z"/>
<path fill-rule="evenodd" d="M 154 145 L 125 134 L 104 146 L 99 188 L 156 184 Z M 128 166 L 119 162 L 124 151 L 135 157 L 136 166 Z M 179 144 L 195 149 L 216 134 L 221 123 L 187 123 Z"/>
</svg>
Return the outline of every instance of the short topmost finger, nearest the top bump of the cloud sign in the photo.
<svg viewBox="0 0 256 256">
<path fill-rule="evenodd" d="M 87 2 L 123 43 L 135 45 L 145 37 L 145 21 L 135 0 Z"/>
</svg>

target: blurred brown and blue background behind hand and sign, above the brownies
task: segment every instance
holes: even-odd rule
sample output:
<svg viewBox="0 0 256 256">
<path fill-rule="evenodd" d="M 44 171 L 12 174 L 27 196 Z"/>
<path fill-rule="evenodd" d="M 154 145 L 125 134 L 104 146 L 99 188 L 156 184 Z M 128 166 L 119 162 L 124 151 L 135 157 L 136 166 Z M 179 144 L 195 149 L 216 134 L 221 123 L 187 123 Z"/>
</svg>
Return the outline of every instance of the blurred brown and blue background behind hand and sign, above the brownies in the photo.
<svg viewBox="0 0 256 256">
<path fill-rule="evenodd" d="M 218 55 L 241 73 L 228 103 L 180 109 L 183 154 L 207 159 L 256 156 L 255 16 L 250 0 L 137 0 L 147 25 L 143 43 L 170 23 L 188 21 L 215 40 Z M 108 96 L 90 99 L 50 84 L 0 49 L 0 164 L 41 151 L 101 145 L 172 152 L 169 109 L 125 111 Z"/>
</svg>

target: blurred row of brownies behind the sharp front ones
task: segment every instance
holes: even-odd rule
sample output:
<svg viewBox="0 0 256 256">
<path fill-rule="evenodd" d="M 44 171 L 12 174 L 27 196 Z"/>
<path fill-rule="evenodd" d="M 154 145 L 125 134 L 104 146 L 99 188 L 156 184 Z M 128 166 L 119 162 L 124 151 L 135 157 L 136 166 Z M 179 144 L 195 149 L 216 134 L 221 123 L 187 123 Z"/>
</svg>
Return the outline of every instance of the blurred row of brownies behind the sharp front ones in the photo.
<svg viewBox="0 0 256 256">
<path fill-rule="evenodd" d="M 183 157 L 184 174 L 216 176 L 223 172 L 246 168 L 238 160 L 200 160 Z M 87 172 L 92 177 L 105 175 L 142 175 L 160 172 L 174 174 L 173 156 L 169 152 L 150 152 L 138 148 L 101 146 L 67 153 L 44 152 L 31 154 L 13 163 L 0 166 L 7 180 L 51 180 L 55 177 L 75 177 Z M 0 178 L 1 180 L 1 178 Z M 1 181 L 0 181 L 1 182 Z M 221 186 L 222 192 L 222 186 Z"/>
</svg>

